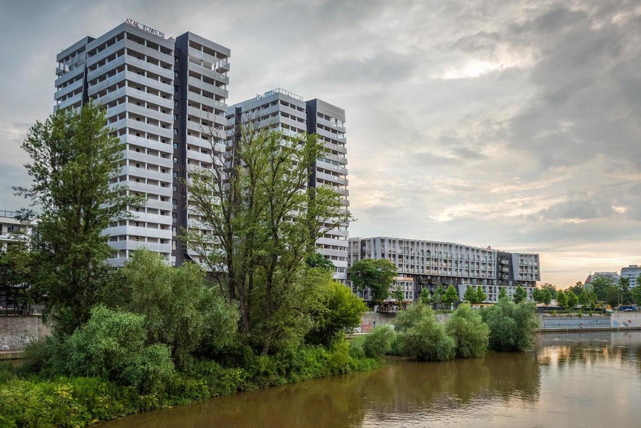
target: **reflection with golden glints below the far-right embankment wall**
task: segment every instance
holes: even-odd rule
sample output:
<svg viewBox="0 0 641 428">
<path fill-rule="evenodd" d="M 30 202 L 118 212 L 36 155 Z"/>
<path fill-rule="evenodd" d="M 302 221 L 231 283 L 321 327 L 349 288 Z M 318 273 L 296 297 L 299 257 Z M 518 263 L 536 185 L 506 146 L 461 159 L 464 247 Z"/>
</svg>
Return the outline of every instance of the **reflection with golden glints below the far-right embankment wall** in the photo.
<svg viewBox="0 0 641 428">
<path fill-rule="evenodd" d="M 545 333 L 539 336 L 537 348 L 538 363 L 542 366 L 633 363 L 641 367 L 641 334 L 635 331 Z"/>
</svg>

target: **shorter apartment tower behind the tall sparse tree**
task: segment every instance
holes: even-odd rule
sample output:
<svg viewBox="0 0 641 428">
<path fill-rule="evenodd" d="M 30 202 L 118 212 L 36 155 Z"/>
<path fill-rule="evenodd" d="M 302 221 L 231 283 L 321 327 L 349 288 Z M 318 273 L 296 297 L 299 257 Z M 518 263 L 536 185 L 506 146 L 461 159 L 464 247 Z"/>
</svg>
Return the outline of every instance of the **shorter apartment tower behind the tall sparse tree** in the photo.
<svg viewBox="0 0 641 428">
<path fill-rule="evenodd" d="M 309 185 L 331 186 L 344 196 L 345 210 L 348 209 L 345 110 L 320 99 L 304 101 L 300 95 L 277 88 L 229 106 L 228 132 L 247 120 L 253 120 L 257 128 L 275 128 L 286 134 L 316 134 L 328 153 L 313 165 Z M 344 283 L 347 279 L 348 225 L 329 226 L 336 227 L 319 238 L 316 246 L 320 254 L 333 262 L 334 278 Z"/>
</svg>

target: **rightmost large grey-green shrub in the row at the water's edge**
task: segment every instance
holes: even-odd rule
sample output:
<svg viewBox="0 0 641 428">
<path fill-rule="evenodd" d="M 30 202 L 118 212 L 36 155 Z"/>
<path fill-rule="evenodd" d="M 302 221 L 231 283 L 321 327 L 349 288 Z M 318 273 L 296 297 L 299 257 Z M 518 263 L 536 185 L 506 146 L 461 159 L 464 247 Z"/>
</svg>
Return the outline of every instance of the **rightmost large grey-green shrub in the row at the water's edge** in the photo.
<svg viewBox="0 0 641 428">
<path fill-rule="evenodd" d="M 501 299 L 481 311 L 490 329 L 489 348 L 497 351 L 529 349 L 534 340 L 538 318 L 532 302 L 516 304 Z"/>
</svg>

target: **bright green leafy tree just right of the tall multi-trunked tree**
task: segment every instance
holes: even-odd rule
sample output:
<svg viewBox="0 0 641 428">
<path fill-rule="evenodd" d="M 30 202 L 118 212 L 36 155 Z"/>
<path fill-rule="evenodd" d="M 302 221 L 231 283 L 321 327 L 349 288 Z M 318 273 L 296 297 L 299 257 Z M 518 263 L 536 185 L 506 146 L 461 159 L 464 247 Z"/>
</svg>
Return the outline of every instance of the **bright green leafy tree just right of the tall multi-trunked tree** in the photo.
<svg viewBox="0 0 641 428">
<path fill-rule="evenodd" d="M 365 312 L 365 303 L 343 284 L 330 281 L 325 302 L 315 318 L 314 327 L 306 336 L 306 342 L 331 345 L 340 333 L 348 333 L 360 325 Z"/>
</svg>

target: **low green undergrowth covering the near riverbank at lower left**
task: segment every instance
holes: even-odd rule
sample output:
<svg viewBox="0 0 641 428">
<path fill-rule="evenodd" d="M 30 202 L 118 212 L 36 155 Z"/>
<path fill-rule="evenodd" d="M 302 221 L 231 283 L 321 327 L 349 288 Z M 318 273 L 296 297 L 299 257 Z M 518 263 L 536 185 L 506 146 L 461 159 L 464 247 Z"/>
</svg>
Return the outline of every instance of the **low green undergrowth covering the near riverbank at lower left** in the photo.
<svg viewBox="0 0 641 428">
<path fill-rule="evenodd" d="M 381 366 L 372 358 L 352 358 L 348 347 L 304 347 L 289 359 L 257 357 L 244 367 L 197 361 L 186 372 L 166 379 L 165 388 L 142 394 L 99 377 L 49 378 L 0 365 L 0 427 L 84 427 L 192 402 Z"/>
</svg>

